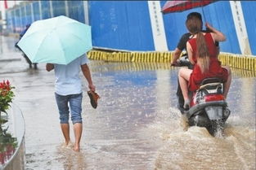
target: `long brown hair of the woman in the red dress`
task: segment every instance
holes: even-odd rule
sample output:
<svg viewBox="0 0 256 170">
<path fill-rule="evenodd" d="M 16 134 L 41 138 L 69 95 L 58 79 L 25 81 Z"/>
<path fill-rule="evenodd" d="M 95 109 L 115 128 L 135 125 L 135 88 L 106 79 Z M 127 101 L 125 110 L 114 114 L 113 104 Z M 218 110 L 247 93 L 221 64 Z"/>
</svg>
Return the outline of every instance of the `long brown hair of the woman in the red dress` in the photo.
<svg viewBox="0 0 256 170">
<path fill-rule="evenodd" d="M 200 67 L 202 73 L 209 70 L 209 50 L 206 46 L 204 35 L 201 32 L 202 30 L 202 21 L 197 17 L 191 17 L 186 20 L 186 28 L 193 35 L 196 34 L 196 57 L 197 63 Z"/>
</svg>

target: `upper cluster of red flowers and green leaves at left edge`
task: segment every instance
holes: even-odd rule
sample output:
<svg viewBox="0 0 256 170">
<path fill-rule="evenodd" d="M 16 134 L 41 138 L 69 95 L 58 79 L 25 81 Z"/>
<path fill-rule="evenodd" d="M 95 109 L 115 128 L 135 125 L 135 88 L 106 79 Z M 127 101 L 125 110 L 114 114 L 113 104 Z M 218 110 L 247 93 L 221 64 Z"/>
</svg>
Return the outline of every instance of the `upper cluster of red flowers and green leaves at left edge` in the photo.
<svg viewBox="0 0 256 170">
<path fill-rule="evenodd" d="M 9 81 L 0 82 L 0 112 L 7 113 L 10 102 L 12 102 L 15 96 L 12 89 L 14 89 L 14 87 L 10 85 Z"/>
</svg>

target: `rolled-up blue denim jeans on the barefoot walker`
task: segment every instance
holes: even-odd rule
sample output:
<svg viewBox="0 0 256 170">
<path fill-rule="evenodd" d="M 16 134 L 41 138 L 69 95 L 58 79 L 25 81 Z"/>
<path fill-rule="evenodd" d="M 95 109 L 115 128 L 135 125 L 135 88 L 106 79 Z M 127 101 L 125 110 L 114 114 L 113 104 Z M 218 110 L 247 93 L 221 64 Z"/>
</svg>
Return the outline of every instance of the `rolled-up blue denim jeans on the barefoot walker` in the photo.
<svg viewBox="0 0 256 170">
<path fill-rule="evenodd" d="M 55 93 L 56 103 L 60 113 L 61 124 L 69 124 L 70 112 L 73 124 L 82 124 L 82 98 L 81 94 L 60 95 Z"/>
</svg>

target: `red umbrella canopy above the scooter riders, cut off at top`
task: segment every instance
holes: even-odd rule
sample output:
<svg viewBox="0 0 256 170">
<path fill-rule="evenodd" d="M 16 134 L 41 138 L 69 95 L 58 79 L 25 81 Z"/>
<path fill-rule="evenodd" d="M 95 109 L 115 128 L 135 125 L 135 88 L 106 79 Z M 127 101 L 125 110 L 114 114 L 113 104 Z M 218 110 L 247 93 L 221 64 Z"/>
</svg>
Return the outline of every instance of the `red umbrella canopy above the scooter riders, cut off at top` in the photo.
<svg viewBox="0 0 256 170">
<path fill-rule="evenodd" d="M 190 10 L 195 7 L 204 7 L 212 2 L 216 2 L 216 1 L 210 1 L 210 0 L 167 1 L 164 4 L 164 7 L 162 8 L 162 12 L 164 14 L 168 14 L 171 12 L 182 12 L 182 11 Z"/>
</svg>

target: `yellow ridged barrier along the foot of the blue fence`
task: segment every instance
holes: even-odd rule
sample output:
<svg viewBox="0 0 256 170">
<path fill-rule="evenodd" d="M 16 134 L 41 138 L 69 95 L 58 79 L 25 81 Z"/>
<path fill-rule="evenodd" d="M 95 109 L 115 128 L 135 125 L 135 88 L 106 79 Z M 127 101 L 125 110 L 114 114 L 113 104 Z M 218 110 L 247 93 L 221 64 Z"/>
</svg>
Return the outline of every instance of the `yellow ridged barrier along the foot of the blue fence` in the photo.
<svg viewBox="0 0 256 170">
<path fill-rule="evenodd" d="M 88 52 L 88 59 L 109 62 L 170 63 L 173 59 L 173 51 L 106 52 L 101 50 L 91 50 Z M 221 53 L 219 54 L 218 59 L 222 62 L 222 65 L 256 72 L 256 56 Z"/>
</svg>

